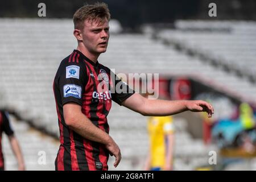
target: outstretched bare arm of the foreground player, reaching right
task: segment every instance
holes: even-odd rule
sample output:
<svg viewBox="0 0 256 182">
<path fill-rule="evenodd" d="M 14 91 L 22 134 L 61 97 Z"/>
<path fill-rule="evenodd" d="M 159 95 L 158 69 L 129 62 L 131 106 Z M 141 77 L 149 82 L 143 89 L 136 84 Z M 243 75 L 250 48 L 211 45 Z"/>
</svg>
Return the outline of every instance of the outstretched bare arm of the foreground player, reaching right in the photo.
<svg viewBox="0 0 256 182">
<path fill-rule="evenodd" d="M 205 101 L 165 101 L 148 100 L 135 93 L 122 103 L 123 106 L 134 110 L 142 115 L 165 116 L 181 113 L 183 111 L 207 111 L 208 117 L 212 117 L 213 107 Z"/>
</svg>

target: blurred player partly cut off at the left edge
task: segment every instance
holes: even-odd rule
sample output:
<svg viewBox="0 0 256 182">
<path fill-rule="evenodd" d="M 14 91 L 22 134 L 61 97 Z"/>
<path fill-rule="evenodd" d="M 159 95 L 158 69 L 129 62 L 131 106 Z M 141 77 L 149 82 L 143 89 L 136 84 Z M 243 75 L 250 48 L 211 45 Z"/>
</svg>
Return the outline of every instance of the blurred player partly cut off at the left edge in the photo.
<svg viewBox="0 0 256 182">
<path fill-rule="evenodd" d="M 11 144 L 11 148 L 16 156 L 18 161 L 18 169 L 19 171 L 25 170 L 25 165 L 23 162 L 22 152 L 20 151 L 18 140 L 14 135 L 14 131 L 10 126 L 9 115 L 6 111 L 0 110 L 0 171 L 5 170 L 4 160 L 3 160 L 3 152 L 2 152 L 2 132 L 5 132 L 9 137 L 9 141 Z"/>
</svg>

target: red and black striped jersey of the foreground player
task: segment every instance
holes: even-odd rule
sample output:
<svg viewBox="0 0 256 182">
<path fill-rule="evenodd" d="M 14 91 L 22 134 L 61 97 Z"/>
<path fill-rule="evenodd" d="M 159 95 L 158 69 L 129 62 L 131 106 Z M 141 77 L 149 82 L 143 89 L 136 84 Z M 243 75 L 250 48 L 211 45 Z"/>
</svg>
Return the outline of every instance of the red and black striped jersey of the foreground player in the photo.
<svg viewBox="0 0 256 182">
<path fill-rule="evenodd" d="M 107 115 L 112 100 L 121 105 L 134 90 L 109 68 L 74 50 L 61 61 L 53 91 L 60 129 L 56 170 L 108 170 L 109 152 L 104 144 L 83 138 L 70 129 L 65 124 L 63 106 L 68 102 L 81 105 L 82 113 L 95 126 L 109 133 Z"/>
</svg>

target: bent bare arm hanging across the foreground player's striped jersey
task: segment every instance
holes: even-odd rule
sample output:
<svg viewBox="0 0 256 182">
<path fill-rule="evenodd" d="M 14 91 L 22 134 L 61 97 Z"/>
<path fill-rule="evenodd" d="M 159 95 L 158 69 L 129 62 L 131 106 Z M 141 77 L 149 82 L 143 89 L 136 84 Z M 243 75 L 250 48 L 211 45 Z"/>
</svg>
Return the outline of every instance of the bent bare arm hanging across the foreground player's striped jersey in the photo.
<svg viewBox="0 0 256 182">
<path fill-rule="evenodd" d="M 121 152 L 112 137 L 105 131 L 93 125 L 92 121 L 82 113 L 80 105 L 69 102 L 63 106 L 63 113 L 65 123 L 76 133 L 86 139 L 105 144 L 110 155 L 115 156 L 114 166 L 117 167 L 121 160 Z"/>
</svg>

